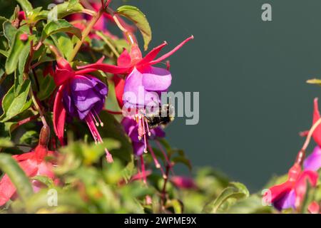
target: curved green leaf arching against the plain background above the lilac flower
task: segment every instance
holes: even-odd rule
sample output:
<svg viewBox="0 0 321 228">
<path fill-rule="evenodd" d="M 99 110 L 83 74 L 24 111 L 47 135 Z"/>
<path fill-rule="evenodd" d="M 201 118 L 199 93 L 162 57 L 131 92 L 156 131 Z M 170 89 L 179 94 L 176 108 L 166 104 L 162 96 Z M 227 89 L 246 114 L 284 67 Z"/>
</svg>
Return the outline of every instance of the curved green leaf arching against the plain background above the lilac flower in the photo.
<svg viewBox="0 0 321 228">
<path fill-rule="evenodd" d="M 146 19 L 146 16 L 135 6 L 121 6 L 117 9 L 117 14 L 125 16 L 127 19 L 133 21 L 141 34 L 144 40 L 144 49 L 148 49 L 148 44 L 151 42 L 152 33 L 151 26 Z"/>
</svg>

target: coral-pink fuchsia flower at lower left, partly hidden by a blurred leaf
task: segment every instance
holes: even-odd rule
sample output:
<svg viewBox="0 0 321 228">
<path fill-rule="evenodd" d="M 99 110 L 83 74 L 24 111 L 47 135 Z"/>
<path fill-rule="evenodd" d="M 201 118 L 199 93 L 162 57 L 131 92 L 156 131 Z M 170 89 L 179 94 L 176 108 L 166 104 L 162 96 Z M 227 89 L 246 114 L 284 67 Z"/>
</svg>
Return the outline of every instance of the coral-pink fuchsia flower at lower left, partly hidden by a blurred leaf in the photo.
<svg viewBox="0 0 321 228">
<path fill-rule="evenodd" d="M 40 133 L 39 145 L 34 150 L 12 156 L 28 177 L 41 175 L 49 177 L 51 180 L 55 179 L 53 172 L 54 163 L 45 160 L 45 157 L 54 155 L 54 151 L 48 150 L 47 147 L 49 134 L 49 128 L 47 126 L 43 127 Z M 41 183 L 36 180 L 32 181 L 32 185 L 34 192 L 37 192 L 39 187 L 41 187 Z M 8 175 L 4 175 L 0 180 L 0 206 L 8 202 L 15 193 L 16 187 L 14 187 Z"/>
</svg>

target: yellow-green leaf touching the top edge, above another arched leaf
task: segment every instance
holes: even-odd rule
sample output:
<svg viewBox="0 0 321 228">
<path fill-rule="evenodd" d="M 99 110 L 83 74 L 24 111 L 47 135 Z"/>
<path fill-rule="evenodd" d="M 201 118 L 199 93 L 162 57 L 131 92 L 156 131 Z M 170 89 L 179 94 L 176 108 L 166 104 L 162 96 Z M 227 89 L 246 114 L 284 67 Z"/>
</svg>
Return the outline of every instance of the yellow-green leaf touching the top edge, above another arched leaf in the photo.
<svg viewBox="0 0 321 228">
<path fill-rule="evenodd" d="M 56 5 L 51 11 L 49 11 L 49 21 L 62 19 L 70 14 L 76 14 L 83 11 L 83 6 L 76 0 L 65 1 L 62 4 Z"/>
</svg>

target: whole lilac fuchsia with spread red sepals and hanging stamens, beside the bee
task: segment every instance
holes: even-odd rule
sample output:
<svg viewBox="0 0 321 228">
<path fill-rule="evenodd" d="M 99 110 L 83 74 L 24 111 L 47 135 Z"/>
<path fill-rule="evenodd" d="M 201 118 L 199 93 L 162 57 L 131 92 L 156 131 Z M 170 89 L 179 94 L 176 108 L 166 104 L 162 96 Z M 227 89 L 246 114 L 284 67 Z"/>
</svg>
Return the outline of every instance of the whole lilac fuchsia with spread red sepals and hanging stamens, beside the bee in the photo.
<svg viewBox="0 0 321 228">
<path fill-rule="evenodd" d="M 166 42 L 156 48 L 153 48 L 153 50 L 144 58 L 142 57 L 141 50 L 138 48 L 138 45 L 134 43 L 130 53 L 128 53 L 126 49 L 121 53 L 121 56 L 118 58 L 118 66 L 108 65 L 99 61 L 98 63 L 80 66 L 78 68 L 84 71 L 92 71 L 93 69 L 96 69 L 108 73 L 126 75 L 125 81 L 123 83 L 118 81 L 116 85 L 116 97 L 118 98 L 118 103 L 123 103 L 126 105 L 126 108 L 136 110 L 136 116 L 133 116 L 133 118 L 138 121 L 138 138 L 139 140 L 143 139 L 144 142 L 146 142 L 146 138 L 151 133 L 148 130 L 147 120 L 143 115 L 143 113 L 146 113 L 145 108 L 149 105 L 158 108 L 161 104 L 159 93 L 167 91 L 172 79 L 168 70 L 154 67 L 153 65 L 164 61 L 191 39 L 193 39 L 193 36 L 190 36 L 176 46 L 172 51 L 159 58 L 156 58 L 156 56 L 161 49 L 167 45 Z M 142 98 L 140 90 L 143 90 Z M 131 94 L 131 96 L 127 97 L 126 94 Z M 120 98 L 122 98 L 121 101 L 119 100 Z M 147 143 L 145 143 L 145 145 L 147 145 Z"/>
</svg>

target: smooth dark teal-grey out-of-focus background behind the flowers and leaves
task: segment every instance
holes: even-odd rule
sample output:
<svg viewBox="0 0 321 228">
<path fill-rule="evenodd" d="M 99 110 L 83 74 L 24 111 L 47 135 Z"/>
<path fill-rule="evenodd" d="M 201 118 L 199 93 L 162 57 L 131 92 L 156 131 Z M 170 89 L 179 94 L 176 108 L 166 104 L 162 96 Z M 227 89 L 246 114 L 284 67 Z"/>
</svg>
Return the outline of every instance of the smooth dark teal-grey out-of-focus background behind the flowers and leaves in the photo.
<svg viewBox="0 0 321 228">
<path fill-rule="evenodd" d="M 216 167 L 252 191 L 287 172 L 304 141 L 298 133 L 310 128 L 312 100 L 321 96 L 305 83 L 321 78 L 321 1 L 126 2 L 146 14 L 150 48 L 168 41 L 169 51 L 195 36 L 170 57 L 171 90 L 200 92 L 200 122 L 176 118 L 167 129 L 171 145 L 185 150 L 194 167 Z M 0 3 L 8 16 L 14 1 Z M 265 3 L 272 21 L 261 19 Z"/>
</svg>

